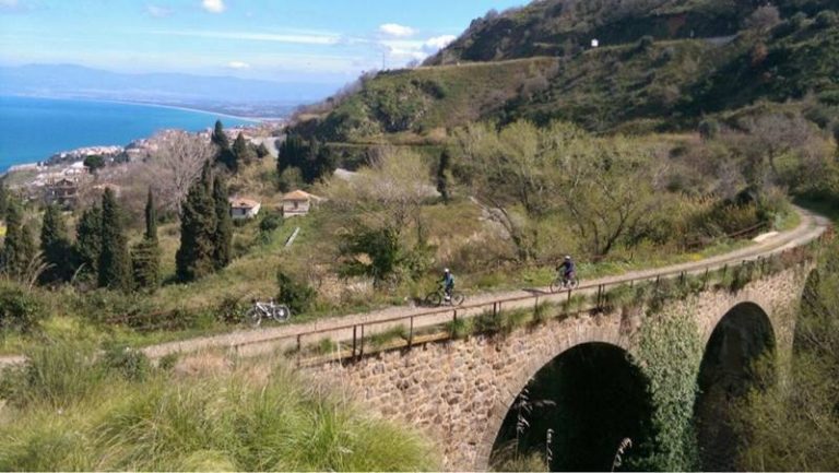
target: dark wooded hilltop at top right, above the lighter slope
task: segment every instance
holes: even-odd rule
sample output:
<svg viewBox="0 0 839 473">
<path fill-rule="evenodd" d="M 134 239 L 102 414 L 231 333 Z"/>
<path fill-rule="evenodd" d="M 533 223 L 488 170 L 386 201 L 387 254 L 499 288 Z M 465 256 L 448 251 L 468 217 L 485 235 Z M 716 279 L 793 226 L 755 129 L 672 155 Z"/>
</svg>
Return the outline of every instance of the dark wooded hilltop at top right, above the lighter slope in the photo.
<svg viewBox="0 0 839 473">
<path fill-rule="evenodd" d="M 720 37 L 736 34 L 747 16 L 765 1 L 745 0 L 542 0 L 489 11 L 475 19 L 449 47 L 426 61 L 428 66 L 457 61 L 493 61 L 539 55 L 570 56 L 592 38 L 625 44 L 642 36 L 655 39 Z M 839 8 L 835 0 L 771 2 L 789 16 Z"/>
</svg>

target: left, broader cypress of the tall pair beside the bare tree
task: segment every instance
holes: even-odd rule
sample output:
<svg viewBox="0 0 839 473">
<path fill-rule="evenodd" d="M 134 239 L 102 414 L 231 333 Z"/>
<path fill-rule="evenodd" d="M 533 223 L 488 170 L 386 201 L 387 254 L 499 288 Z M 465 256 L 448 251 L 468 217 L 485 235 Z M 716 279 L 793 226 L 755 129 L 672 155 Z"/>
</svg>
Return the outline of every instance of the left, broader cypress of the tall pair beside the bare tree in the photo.
<svg viewBox="0 0 839 473">
<path fill-rule="evenodd" d="M 215 205 L 211 196 L 210 163 L 204 163 L 201 179 L 192 184 L 181 206 L 180 248 L 175 255 L 178 279 L 196 281 L 215 269 Z"/>
</svg>

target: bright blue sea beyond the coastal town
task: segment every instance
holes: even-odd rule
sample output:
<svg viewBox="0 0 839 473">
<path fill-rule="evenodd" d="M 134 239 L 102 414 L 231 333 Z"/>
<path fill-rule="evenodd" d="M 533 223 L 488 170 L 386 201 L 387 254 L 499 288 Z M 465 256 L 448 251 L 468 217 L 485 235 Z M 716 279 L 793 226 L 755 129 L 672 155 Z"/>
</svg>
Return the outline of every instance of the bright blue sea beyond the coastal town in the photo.
<svg viewBox="0 0 839 473">
<path fill-rule="evenodd" d="M 0 172 L 83 146 L 125 146 L 158 130 L 253 123 L 217 114 L 115 102 L 0 96 Z"/>
</svg>

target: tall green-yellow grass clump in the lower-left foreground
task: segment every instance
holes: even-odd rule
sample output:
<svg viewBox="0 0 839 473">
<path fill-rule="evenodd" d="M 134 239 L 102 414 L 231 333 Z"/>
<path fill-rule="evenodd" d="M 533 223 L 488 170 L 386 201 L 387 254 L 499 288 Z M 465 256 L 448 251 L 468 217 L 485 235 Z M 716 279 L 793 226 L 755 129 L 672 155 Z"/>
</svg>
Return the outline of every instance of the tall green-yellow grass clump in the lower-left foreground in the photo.
<svg viewBox="0 0 839 473">
<path fill-rule="evenodd" d="M 282 365 L 144 382 L 54 346 L 26 370 L 40 374 L 27 402 L 0 418 L 3 471 L 405 471 L 438 468 L 429 444 L 365 416 Z M 67 370 L 66 375 L 56 373 Z M 56 409 L 56 399 L 70 393 Z M 14 393 L 9 398 L 14 399 Z"/>
</svg>

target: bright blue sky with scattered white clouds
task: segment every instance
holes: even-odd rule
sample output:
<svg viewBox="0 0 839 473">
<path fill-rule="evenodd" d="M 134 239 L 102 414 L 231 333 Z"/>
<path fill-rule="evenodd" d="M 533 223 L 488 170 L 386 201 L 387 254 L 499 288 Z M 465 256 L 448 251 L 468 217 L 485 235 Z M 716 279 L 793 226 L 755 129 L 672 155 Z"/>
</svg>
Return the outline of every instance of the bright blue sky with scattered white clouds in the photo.
<svg viewBox="0 0 839 473">
<path fill-rule="evenodd" d="M 0 66 L 345 83 L 525 0 L 0 0 Z"/>
</svg>

